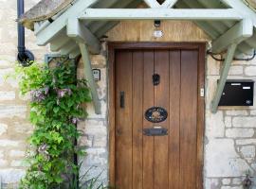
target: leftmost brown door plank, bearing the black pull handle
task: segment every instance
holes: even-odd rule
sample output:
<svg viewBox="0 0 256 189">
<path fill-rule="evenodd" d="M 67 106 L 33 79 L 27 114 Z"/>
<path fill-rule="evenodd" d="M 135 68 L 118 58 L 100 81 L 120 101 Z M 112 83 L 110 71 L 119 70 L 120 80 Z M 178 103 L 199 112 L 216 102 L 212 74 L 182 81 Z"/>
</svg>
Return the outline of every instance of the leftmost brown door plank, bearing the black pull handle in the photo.
<svg viewBox="0 0 256 189">
<path fill-rule="evenodd" d="M 132 53 L 119 51 L 116 56 L 116 184 L 130 189 L 133 178 L 132 151 Z M 119 94 L 124 92 L 124 108 L 120 108 Z"/>
</svg>

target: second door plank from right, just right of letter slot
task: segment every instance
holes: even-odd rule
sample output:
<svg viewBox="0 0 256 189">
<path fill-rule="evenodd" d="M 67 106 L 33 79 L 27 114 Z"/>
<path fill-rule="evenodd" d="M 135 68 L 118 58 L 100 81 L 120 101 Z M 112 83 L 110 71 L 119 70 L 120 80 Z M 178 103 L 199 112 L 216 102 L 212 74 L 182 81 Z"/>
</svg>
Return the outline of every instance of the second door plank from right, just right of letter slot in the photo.
<svg viewBox="0 0 256 189">
<path fill-rule="evenodd" d="M 180 51 L 170 51 L 169 189 L 179 189 Z"/>
</svg>

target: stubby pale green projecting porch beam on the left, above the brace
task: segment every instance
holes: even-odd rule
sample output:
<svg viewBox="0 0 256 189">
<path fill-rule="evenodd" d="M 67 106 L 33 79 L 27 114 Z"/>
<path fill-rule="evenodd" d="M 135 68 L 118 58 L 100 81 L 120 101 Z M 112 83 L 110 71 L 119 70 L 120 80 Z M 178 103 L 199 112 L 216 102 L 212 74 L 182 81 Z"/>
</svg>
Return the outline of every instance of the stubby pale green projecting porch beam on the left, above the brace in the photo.
<svg viewBox="0 0 256 189">
<path fill-rule="evenodd" d="M 91 53 L 100 53 L 100 41 L 86 26 L 82 26 L 82 23 L 77 18 L 67 20 L 66 34 L 68 37 L 75 39 L 77 43 L 86 43 Z"/>
</svg>

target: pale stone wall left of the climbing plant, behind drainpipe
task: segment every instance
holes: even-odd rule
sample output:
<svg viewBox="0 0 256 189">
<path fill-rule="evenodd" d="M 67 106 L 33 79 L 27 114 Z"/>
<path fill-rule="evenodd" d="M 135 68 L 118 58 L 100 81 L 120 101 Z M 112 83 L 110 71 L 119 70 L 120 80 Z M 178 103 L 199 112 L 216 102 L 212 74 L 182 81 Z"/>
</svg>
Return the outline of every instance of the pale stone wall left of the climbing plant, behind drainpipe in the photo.
<svg viewBox="0 0 256 189">
<path fill-rule="evenodd" d="M 26 9 L 39 0 L 27 0 Z M 17 56 L 17 28 L 15 0 L 0 0 L 0 188 L 14 188 L 25 174 L 26 139 L 32 127 L 27 121 L 27 98 L 19 93 L 17 82 L 11 78 Z M 26 46 L 37 60 L 44 58 L 46 48 L 38 47 L 34 35 L 26 30 Z"/>
</svg>

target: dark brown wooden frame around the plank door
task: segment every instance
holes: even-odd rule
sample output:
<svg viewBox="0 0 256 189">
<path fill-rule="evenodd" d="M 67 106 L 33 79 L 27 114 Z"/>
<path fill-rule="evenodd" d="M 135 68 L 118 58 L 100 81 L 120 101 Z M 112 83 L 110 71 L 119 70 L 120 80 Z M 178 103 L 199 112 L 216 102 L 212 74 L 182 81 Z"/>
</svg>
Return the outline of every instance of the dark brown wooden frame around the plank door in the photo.
<svg viewBox="0 0 256 189">
<path fill-rule="evenodd" d="M 171 49 L 171 50 L 197 50 L 198 75 L 197 75 L 197 189 L 203 189 L 203 163 L 204 163 L 204 128 L 205 128 L 205 97 L 200 96 L 200 89 L 205 89 L 205 62 L 206 43 L 108 43 L 108 81 L 109 81 L 109 180 L 110 184 L 116 183 L 116 134 L 115 134 L 115 53 L 120 49 Z"/>
</svg>

